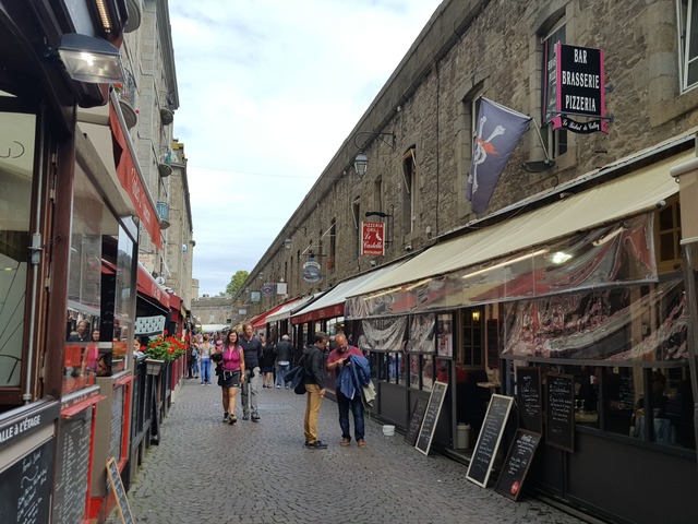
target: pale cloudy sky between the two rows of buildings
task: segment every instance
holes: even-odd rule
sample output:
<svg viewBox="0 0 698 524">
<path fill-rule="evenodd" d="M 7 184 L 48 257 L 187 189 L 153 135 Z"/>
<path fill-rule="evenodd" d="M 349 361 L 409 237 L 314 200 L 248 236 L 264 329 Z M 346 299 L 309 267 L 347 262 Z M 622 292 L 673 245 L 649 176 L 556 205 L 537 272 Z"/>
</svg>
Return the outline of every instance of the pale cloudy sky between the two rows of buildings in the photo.
<svg viewBox="0 0 698 524">
<path fill-rule="evenodd" d="M 252 271 L 440 3 L 169 0 L 200 295 Z"/>
</svg>

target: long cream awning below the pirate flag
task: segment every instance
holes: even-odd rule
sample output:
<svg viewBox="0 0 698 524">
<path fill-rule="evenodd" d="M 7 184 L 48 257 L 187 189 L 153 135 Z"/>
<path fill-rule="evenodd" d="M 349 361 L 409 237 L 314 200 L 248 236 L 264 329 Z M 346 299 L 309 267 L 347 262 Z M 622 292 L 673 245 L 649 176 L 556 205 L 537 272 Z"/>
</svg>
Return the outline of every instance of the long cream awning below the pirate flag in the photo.
<svg viewBox="0 0 698 524">
<path fill-rule="evenodd" d="M 678 192 L 678 186 L 669 174 L 670 168 L 694 156 L 694 151 L 671 156 L 531 213 L 437 243 L 395 271 L 351 291 L 349 297 L 399 290 L 424 278 L 445 275 L 653 210 L 658 202 Z"/>
</svg>

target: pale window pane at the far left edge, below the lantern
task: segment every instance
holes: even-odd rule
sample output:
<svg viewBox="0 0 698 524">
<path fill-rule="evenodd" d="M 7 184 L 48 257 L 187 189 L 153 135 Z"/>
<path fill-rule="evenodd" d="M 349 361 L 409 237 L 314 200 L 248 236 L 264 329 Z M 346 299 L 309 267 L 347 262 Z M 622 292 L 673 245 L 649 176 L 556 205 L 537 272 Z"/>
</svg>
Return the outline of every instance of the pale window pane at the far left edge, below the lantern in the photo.
<svg viewBox="0 0 698 524">
<path fill-rule="evenodd" d="M 0 92 L 0 388 L 19 388 L 25 347 L 36 116 Z"/>
</svg>

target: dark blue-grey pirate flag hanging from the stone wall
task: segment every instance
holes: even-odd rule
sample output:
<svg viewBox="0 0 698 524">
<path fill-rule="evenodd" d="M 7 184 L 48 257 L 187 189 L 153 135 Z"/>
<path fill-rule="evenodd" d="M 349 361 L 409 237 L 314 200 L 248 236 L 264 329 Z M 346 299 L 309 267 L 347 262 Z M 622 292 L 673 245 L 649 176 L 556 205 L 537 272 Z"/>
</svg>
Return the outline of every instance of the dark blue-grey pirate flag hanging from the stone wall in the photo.
<svg viewBox="0 0 698 524">
<path fill-rule="evenodd" d="M 480 99 L 478 134 L 472 147 L 466 198 L 473 213 L 488 209 L 494 188 L 531 117 L 486 98 Z"/>
</svg>

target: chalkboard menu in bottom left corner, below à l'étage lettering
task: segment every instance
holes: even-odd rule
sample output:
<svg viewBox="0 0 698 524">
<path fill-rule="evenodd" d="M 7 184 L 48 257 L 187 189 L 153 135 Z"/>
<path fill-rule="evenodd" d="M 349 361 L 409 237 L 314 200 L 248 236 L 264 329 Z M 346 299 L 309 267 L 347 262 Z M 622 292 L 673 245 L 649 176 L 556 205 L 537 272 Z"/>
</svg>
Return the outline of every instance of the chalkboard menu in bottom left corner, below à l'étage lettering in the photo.
<svg viewBox="0 0 698 524">
<path fill-rule="evenodd" d="M 56 440 L 47 440 L 0 473 L 2 524 L 49 522 L 55 450 Z"/>
</svg>

